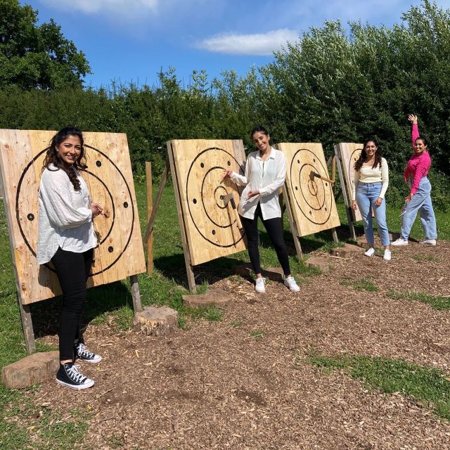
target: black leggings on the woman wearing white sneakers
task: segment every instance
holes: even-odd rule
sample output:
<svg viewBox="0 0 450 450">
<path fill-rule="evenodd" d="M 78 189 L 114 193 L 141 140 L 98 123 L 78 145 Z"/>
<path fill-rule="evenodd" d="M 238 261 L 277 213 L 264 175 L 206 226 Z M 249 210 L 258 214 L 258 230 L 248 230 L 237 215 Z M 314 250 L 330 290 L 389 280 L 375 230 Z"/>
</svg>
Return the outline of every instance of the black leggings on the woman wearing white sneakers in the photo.
<svg viewBox="0 0 450 450">
<path fill-rule="evenodd" d="M 261 206 L 258 206 L 255 211 L 255 217 L 253 219 L 247 219 L 240 216 L 240 220 L 245 229 L 248 243 L 248 255 L 250 256 L 250 262 L 252 263 L 253 271 L 255 274 L 261 274 L 261 266 L 259 265 L 259 248 L 258 248 L 258 217 L 261 217 L 262 224 L 269 235 L 269 238 L 274 245 L 276 256 L 278 261 L 283 267 L 285 275 L 290 274 L 288 249 L 283 239 L 283 226 L 281 225 L 281 218 L 275 217 L 274 219 L 264 220 L 262 218 Z"/>
</svg>

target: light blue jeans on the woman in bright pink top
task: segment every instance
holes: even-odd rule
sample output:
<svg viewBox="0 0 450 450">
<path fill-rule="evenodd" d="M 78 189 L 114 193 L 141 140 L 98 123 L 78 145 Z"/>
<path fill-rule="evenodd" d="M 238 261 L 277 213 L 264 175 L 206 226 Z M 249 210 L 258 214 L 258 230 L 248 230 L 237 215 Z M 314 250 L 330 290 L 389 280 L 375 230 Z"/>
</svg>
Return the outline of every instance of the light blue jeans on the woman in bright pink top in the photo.
<svg viewBox="0 0 450 450">
<path fill-rule="evenodd" d="M 425 238 L 436 239 L 436 218 L 431 203 L 431 184 L 426 176 L 420 180 L 419 188 L 413 195 L 413 198 L 406 203 L 404 214 L 401 217 L 401 238 L 408 239 L 411 228 L 416 220 L 417 213 L 420 211 L 420 221 L 425 233 Z"/>
</svg>

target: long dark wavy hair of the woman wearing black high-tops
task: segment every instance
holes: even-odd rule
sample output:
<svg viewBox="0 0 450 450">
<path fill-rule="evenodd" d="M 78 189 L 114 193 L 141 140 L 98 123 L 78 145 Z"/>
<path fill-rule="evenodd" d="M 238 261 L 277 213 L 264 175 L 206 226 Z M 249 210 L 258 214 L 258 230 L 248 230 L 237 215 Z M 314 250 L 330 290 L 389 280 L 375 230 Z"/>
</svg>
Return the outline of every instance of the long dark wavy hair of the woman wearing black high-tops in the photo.
<svg viewBox="0 0 450 450">
<path fill-rule="evenodd" d="M 78 136 L 79 141 L 82 144 L 82 151 L 79 154 L 79 158 L 70 166 L 66 165 L 63 160 L 58 155 L 58 147 L 60 146 L 60 143 L 65 141 L 65 139 L 68 139 L 69 136 Z M 47 150 L 47 155 L 44 160 L 44 169 L 49 170 L 55 170 L 50 169 L 49 165 L 53 164 L 53 166 L 56 167 L 56 170 L 63 170 L 66 174 L 68 174 L 68 177 L 70 179 L 70 182 L 73 185 L 73 188 L 75 191 L 80 191 L 81 186 L 79 185 L 79 180 L 77 179 L 77 173 L 75 172 L 75 169 L 77 170 L 86 170 L 86 156 L 84 155 L 84 139 L 83 134 L 80 129 L 77 127 L 73 127 L 72 125 L 68 125 L 67 127 L 64 127 L 63 129 L 60 129 L 58 133 L 53 136 L 53 138 L 50 141 L 50 148 Z"/>
</svg>

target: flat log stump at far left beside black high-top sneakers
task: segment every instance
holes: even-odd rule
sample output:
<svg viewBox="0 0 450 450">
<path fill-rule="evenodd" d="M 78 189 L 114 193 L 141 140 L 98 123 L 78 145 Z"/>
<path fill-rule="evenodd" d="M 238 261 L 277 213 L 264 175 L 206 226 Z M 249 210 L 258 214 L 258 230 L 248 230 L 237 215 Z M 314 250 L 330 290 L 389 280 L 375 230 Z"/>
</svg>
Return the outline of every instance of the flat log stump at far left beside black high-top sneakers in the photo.
<svg viewBox="0 0 450 450">
<path fill-rule="evenodd" d="M 9 389 L 20 389 L 56 376 L 58 368 L 59 352 L 34 353 L 5 366 L 1 380 Z"/>
</svg>

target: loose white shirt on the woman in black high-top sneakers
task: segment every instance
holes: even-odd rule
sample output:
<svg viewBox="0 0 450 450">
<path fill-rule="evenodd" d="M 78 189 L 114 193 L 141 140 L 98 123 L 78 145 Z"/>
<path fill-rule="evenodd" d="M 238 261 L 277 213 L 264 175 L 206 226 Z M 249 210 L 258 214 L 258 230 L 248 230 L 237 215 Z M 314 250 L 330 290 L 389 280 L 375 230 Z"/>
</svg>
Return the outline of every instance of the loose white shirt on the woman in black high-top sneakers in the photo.
<svg viewBox="0 0 450 450">
<path fill-rule="evenodd" d="M 90 210 L 91 198 L 84 179 L 77 172 L 80 191 L 75 191 L 68 174 L 50 165 L 39 186 L 39 236 L 37 262 L 49 262 L 60 247 L 82 253 L 97 245 Z"/>
</svg>

